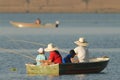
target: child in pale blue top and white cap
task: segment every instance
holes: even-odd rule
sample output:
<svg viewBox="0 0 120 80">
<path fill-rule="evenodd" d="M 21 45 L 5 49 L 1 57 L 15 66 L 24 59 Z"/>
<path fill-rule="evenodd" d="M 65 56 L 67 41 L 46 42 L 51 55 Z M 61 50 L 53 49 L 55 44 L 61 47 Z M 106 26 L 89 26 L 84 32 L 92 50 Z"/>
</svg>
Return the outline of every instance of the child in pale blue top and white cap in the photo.
<svg viewBox="0 0 120 80">
<path fill-rule="evenodd" d="M 38 51 L 39 54 L 36 57 L 36 62 L 37 62 L 36 65 L 41 65 L 42 61 L 46 60 L 47 57 L 45 56 L 45 52 L 44 52 L 43 48 L 39 48 L 37 51 Z"/>
</svg>

